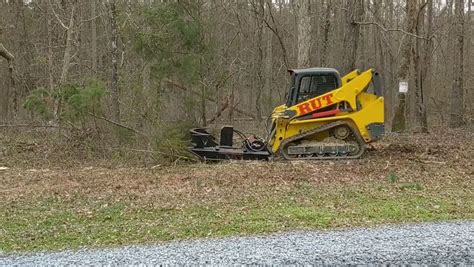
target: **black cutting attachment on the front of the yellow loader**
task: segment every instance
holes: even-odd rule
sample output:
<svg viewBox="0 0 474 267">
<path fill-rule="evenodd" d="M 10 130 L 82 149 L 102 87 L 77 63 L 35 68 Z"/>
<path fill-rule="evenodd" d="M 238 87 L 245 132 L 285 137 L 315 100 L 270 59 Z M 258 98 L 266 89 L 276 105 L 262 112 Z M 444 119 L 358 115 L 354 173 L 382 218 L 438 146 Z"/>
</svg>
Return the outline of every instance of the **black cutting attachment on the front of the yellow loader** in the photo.
<svg viewBox="0 0 474 267">
<path fill-rule="evenodd" d="M 271 156 L 267 145 L 255 136 L 245 137 L 240 147 L 233 146 L 234 127 L 224 126 L 221 129 L 219 144 L 216 138 L 204 128 L 190 131 L 193 147 L 191 151 L 201 160 L 268 160 Z M 242 135 L 240 132 L 238 132 Z"/>
</svg>

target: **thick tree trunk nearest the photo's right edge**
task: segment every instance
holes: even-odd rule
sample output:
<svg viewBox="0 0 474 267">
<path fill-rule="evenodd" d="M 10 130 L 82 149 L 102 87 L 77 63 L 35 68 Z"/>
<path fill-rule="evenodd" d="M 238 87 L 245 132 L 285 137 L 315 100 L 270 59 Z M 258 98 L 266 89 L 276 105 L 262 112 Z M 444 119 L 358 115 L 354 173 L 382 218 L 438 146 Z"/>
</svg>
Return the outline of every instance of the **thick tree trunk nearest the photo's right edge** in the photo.
<svg viewBox="0 0 474 267">
<path fill-rule="evenodd" d="M 451 128 L 464 125 L 464 0 L 456 0 L 455 13 L 456 43 L 455 49 L 453 50 L 454 77 L 449 114 L 449 127 Z"/>
</svg>

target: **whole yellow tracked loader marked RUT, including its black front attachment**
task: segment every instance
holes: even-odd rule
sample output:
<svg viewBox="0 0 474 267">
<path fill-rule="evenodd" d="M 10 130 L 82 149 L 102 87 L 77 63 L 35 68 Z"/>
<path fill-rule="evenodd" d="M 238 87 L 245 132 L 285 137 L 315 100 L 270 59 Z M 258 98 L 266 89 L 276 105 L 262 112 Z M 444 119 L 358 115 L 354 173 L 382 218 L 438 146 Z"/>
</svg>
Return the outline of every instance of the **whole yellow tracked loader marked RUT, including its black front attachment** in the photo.
<svg viewBox="0 0 474 267">
<path fill-rule="evenodd" d="M 355 159 L 384 134 L 381 79 L 374 69 L 343 77 L 332 68 L 289 73 L 286 102 L 273 110 L 266 138 L 225 126 L 217 142 L 206 129 L 195 128 L 191 152 L 205 161 Z"/>
</svg>

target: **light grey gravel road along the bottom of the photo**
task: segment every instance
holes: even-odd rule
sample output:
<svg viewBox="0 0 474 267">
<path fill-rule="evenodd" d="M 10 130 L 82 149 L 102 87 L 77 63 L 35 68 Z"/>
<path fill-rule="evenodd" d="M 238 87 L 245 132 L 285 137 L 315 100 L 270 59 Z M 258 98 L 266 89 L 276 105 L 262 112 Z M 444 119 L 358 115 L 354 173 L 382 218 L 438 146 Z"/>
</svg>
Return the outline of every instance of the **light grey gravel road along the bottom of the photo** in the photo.
<svg viewBox="0 0 474 267">
<path fill-rule="evenodd" d="M 0 254 L 0 265 L 474 264 L 474 221 Z"/>
</svg>

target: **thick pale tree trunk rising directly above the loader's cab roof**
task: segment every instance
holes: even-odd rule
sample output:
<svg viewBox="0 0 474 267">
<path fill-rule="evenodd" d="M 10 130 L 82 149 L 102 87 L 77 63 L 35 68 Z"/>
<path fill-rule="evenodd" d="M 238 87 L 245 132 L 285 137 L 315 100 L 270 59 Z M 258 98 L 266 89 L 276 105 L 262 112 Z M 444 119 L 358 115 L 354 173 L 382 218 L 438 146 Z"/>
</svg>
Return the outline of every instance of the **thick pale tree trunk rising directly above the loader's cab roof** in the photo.
<svg viewBox="0 0 474 267">
<path fill-rule="evenodd" d="M 310 0 L 297 1 L 298 15 L 298 68 L 307 68 L 310 66 L 311 50 L 311 17 Z"/>
</svg>

